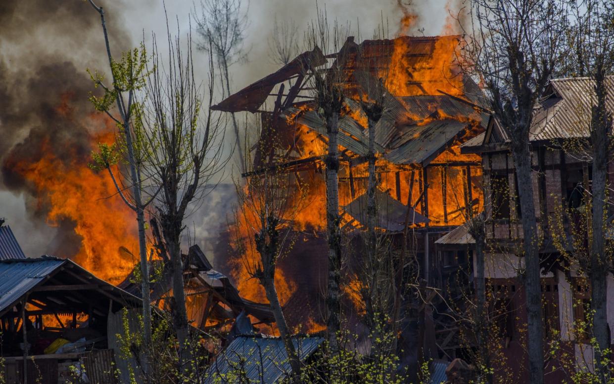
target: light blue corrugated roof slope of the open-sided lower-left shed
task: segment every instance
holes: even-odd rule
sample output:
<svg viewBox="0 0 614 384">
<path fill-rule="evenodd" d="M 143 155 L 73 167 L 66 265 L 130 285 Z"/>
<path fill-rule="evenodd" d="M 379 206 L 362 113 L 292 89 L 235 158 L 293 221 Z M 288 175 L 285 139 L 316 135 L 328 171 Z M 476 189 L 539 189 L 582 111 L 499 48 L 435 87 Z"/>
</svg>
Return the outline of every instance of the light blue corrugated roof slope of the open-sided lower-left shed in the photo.
<svg viewBox="0 0 614 384">
<path fill-rule="evenodd" d="M 45 257 L 0 262 L 0 312 L 14 304 L 26 292 L 66 261 Z"/>
</svg>

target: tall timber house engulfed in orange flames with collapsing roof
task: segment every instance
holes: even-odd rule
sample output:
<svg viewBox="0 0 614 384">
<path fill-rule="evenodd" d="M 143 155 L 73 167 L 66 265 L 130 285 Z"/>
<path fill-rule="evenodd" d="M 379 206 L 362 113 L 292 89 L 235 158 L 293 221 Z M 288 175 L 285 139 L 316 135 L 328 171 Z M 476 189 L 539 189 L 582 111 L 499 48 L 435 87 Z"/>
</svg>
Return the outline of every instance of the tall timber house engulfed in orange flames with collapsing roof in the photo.
<svg viewBox="0 0 614 384">
<path fill-rule="evenodd" d="M 480 88 L 463 77 L 454 63 L 457 43 L 456 36 L 402 36 L 360 44 L 349 38 L 340 50 L 343 55 L 325 55 L 316 47 L 214 106 L 225 112 L 255 113 L 261 122 L 252 171 L 243 174 L 246 179 L 270 171 L 287 172 L 308 190 L 308 206 L 295 218 L 300 231 L 296 243 L 300 245 L 280 261 L 284 280 L 289 281 L 289 289 L 280 296 L 292 328 L 309 324 L 309 331 L 317 331 L 325 323 L 319 287 L 324 284 L 320 276 L 325 275 L 321 266 L 327 263 L 323 175 L 327 128 L 310 82 L 317 71 L 341 67 L 344 72 L 340 86 L 346 98 L 337 137 L 340 215 L 341 228 L 356 249 L 349 256 L 346 274 L 356 276 L 362 245 L 355 239 L 367 228 L 369 140 L 362 102 L 379 97 L 374 94 L 382 90 L 375 85 L 379 83 L 384 112 L 375 126 L 377 231 L 388 237 L 398 252 L 403 232 L 410 229 L 411 258 L 418 261 L 424 297 L 432 300 L 446 289 L 435 240 L 462 225 L 468 211 L 483 208 L 482 159 L 461 153 L 461 145 L 482 134 L 489 121 Z M 467 255 L 459 263 L 464 265 L 468 260 Z M 262 290 L 247 278 L 241 262 L 234 266 L 239 290 L 249 299 L 262 300 Z M 364 310 L 359 290 L 346 292 L 349 312 Z M 438 332 L 435 340 L 437 319 L 433 320 L 430 305 L 411 302 L 409 295 L 402 300 L 403 307 L 416 310 L 416 318 L 422 320 L 419 324 L 411 323 L 415 319 L 402 320 L 400 348 L 418 347 L 410 345 L 411 340 L 416 339 L 416 332 L 426 330 L 430 336 L 420 347 L 429 351 L 427 356 L 437 358 L 437 344 L 448 345 L 454 333 Z M 355 326 L 362 332 L 360 324 Z"/>
</svg>

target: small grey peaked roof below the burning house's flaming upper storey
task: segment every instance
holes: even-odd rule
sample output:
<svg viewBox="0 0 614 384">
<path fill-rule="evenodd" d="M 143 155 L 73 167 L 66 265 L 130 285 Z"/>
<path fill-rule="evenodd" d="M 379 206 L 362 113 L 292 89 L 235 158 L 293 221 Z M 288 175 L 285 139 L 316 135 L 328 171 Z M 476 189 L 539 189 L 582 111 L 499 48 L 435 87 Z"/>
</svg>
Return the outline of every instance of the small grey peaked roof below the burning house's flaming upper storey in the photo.
<svg viewBox="0 0 614 384">
<path fill-rule="evenodd" d="M 422 216 L 413 208 L 408 207 L 379 189 L 375 190 L 375 204 L 378 207 L 377 226 L 378 228 L 386 229 L 386 231 L 403 231 L 403 229 L 405 229 L 405 215 L 408 209 L 410 210 L 410 225 L 429 222 L 428 218 Z M 354 201 L 343 207 L 343 209 L 354 218 L 354 220 L 364 225 L 367 223 L 366 207 L 367 194 L 363 193 L 354 199 Z"/>
</svg>

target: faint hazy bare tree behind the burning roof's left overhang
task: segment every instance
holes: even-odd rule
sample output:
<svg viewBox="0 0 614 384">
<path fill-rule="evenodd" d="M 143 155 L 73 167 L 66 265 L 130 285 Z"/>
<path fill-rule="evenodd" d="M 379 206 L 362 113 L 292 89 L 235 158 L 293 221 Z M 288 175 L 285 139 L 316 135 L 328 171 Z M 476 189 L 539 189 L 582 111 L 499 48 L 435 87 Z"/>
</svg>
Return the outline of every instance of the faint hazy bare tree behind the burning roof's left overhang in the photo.
<svg viewBox="0 0 614 384">
<path fill-rule="evenodd" d="M 210 52 L 222 73 L 222 96 L 230 96 L 230 67 L 247 60 L 243 40 L 249 26 L 247 19 L 249 3 L 243 0 L 203 0 L 200 2 L 200 17 L 196 17 L 196 33 L 203 39 L 198 49 Z M 196 12 L 196 11 L 195 11 Z M 235 113 L 231 113 L 235 128 L 235 148 L 239 164 L 243 166 L 242 145 Z M 243 169 L 243 172 L 245 170 Z"/>
</svg>

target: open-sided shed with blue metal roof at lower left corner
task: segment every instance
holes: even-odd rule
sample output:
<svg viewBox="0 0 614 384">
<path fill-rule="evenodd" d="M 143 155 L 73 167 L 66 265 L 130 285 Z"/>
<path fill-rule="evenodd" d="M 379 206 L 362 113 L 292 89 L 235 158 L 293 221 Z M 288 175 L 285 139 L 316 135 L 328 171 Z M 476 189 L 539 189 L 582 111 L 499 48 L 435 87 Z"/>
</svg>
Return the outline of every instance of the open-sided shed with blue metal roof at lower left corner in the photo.
<svg viewBox="0 0 614 384">
<path fill-rule="evenodd" d="M 55 384 L 76 365 L 85 367 L 91 382 L 112 382 L 114 355 L 119 353 L 115 334 L 122 324 L 115 313 L 140 306 L 139 298 L 69 259 L 3 259 L 0 375 L 8 384 L 23 382 L 24 375 L 28 383 L 42 376 L 41 383 Z"/>
</svg>

